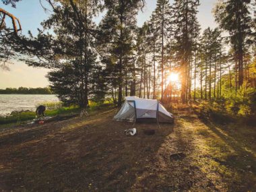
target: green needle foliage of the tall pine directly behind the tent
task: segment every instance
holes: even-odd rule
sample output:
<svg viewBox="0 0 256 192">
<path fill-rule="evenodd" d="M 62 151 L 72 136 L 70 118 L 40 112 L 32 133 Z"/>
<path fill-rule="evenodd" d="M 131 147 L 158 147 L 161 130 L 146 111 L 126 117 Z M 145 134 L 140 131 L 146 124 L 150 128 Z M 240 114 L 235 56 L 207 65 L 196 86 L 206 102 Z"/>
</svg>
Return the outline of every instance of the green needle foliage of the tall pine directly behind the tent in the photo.
<svg viewBox="0 0 256 192">
<path fill-rule="evenodd" d="M 98 48 L 102 53 L 102 63 L 106 66 L 108 90 L 121 106 L 123 86 L 134 77 L 133 46 L 135 42 L 136 15 L 141 1 L 105 1 L 106 15 L 99 25 Z M 126 92 L 127 93 L 127 92 Z"/>
</svg>

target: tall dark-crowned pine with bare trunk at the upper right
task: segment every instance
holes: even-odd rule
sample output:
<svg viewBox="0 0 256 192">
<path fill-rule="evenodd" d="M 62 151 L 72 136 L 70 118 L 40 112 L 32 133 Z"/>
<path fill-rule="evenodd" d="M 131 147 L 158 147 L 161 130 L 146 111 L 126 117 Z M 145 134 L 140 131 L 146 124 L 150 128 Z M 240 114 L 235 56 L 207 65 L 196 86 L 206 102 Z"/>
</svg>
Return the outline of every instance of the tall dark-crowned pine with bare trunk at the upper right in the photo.
<svg viewBox="0 0 256 192">
<path fill-rule="evenodd" d="M 243 59 L 245 45 L 250 43 L 251 14 L 249 12 L 251 0 L 227 0 L 216 6 L 215 18 L 220 28 L 229 32 L 230 43 L 234 49 L 234 62 L 238 69 L 238 87 L 243 84 Z"/>
</svg>

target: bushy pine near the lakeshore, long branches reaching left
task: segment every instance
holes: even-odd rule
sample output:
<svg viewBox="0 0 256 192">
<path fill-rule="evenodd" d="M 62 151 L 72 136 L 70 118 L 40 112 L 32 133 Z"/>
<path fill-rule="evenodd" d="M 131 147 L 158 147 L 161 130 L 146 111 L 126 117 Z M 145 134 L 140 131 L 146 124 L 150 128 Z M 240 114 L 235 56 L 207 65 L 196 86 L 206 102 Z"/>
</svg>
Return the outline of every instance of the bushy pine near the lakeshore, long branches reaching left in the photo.
<svg viewBox="0 0 256 192">
<path fill-rule="evenodd" d="M 54 7 L 37 37 L 19 36 L 8 42 L 18 53 L 32 57 L 28 65 L 51 68 L 47 76 L 59 98 L 81 108 L 88 106 L 88 96 L 95 94 L 94 73 L 98 73 L 94 49 L 95 24 L 92 18 L 100 9 L 98 1 L 63 1 Z M 51 30 L 51 34 L 47 33 Z M 54 33 L 54 35 L 53 35 Z M 30 59 L 32 58 L 32 59 Z M 68 77 L 68 79 L 67 79 Z"/>
</svg>

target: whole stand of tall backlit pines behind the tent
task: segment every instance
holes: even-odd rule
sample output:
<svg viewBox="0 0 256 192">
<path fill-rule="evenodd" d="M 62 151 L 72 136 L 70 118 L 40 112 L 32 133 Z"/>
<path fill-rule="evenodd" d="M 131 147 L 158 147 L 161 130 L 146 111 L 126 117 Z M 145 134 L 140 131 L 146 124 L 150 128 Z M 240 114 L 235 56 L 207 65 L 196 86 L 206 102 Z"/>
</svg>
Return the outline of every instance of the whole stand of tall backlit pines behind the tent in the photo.
<svg viewBox="0 0 256 192">
<path fill-rule="evenodd" d="M 120 106 L 129 95 L 163 102 L 180 95 L 185 103 L 255 92 L 255 1 L 216 0 L 218 27 L 206 29 L 197 21 L 199 0 L 158 0 L 141 27 L 143 0 L 46 2 L 53 13 L 37 36 L 0 31 L 0 59 L 22 54 L 30 66 L 52 69 L 51 89 L 66 104 L 86 108 L 89 98 L 108 97 Z M 173 72 L 181 88 L 168 82 Z"/>
</svg>

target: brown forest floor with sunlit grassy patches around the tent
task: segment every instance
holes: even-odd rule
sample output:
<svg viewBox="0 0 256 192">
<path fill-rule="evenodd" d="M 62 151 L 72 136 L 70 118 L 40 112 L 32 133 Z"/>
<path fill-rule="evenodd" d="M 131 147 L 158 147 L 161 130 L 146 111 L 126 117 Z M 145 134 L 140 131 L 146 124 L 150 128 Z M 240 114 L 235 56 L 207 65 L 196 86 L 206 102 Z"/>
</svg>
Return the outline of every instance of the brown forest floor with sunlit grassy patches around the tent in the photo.
<svg viewBox="0 0 256 192">
<path fill-rule="evenodd" d="M 115 113 L 1 129 L 0 191 L 256 191 L 256 127 L 179 106 L 174 125 L 126 136 Z"/>
</svg>

